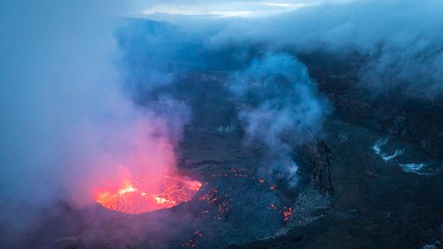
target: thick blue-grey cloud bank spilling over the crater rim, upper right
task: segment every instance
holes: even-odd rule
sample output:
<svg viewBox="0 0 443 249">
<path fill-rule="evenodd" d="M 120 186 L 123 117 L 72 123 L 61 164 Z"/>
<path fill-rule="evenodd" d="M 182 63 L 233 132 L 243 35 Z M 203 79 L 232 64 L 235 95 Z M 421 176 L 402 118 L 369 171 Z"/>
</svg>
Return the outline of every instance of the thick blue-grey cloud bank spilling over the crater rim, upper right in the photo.
<svg viewBox="0 0 443 249">
<path fill-rule="evenodd" d="M 439 1 L 320 4 L 279 16 L 235 20 L 209 38 L 214 48 L 261 44 L 297 53 L 358 52 L 359 84 L 376 94 L 415 99 L 442 95 L 443 30 Z"/>
</svg>

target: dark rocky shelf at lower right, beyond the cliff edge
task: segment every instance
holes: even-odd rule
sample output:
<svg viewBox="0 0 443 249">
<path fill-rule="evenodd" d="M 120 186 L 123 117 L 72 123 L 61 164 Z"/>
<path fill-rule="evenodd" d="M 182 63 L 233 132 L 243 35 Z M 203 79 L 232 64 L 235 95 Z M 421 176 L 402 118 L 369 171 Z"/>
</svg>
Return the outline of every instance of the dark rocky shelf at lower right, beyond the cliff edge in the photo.
<svg viewBox="0 0 443 249">
<path fill-rule="evenodd" d="M 341 139 L 344 132 L 346 141 Z M 438 226 L 429 227 L 441 223 L 443 200 L 438 197 L 443 194 L 443 176 L 403 171 L 400 163 L 412 158 L 428 162 L 431 157 L 395 138 L 385 150 L 403 148 L 405 153 L 383 160 L 372 147 L 385 135 L 343 121 L 327 121 L 322 139 L 331 150 L 327 155 L 334 185 L 327 213 L 292 227 L 283 236 L 242 248 L 422 248 L 434 243 L 440 236 L 433 231 Z"/>
</svg>

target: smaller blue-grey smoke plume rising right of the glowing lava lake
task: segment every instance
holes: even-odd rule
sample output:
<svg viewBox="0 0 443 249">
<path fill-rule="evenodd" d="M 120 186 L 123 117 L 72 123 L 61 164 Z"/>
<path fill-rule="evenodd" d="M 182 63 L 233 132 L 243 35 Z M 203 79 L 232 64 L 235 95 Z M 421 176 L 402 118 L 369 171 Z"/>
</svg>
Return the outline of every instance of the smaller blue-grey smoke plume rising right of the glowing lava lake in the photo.
<svg viewBox="0 0 443 249">
<path fill-rule="evenodd" d="M 295 185 L 297 165 L 292 162 L 292 148 L 317 135 L 330 111 L 305 65 L 285 53 L 268 53 L 234 73 L 230 87 L 236 101 L 253 104 L 239 110 L 247 143 L 265 145 L 271 166 L 289 170 Z"/>
</svg>

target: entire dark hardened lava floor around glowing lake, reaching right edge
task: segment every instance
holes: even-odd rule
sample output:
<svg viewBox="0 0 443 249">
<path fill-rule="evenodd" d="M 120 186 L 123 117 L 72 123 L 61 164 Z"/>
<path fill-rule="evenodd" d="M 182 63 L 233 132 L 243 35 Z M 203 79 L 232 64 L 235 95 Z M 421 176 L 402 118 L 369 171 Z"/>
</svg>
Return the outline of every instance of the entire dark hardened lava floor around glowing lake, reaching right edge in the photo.
<svg viewBox="0 0 443 249">
<path fill-rule="evenodd" d="M 217 87 L 214 82 L 201 83 L 203 88 Z M 214 106 L 196 103 L 202 106 L 196 112 L 206 118 L 187 126 L 177 150 L 180 170 L 202 183 L 190 201 L 136 215 L 97 205 L 83 210 L 81 217 L 98 216 L 99 223 L 84 227 L 82 221 L 73 221 L 81 232 L 70 231 L 56 244 L 64 248 L 408 248 L 432 238 L 432 221 L 443 211 L 441 200 L 435 198 L 443 194 L 441 168 L 414 145 L 331 116 L 317 140 L 294 149 L 298 167 L 294 175 L 290 163 L 268 167 L 266 148 L 260 144 L 244 146 L 242 133 L 231 123 L 233 104 L 220 107 L 220 94 L 207 98 L 218 106 L 217 115 L 211 114 Z M 426 168 L 405 167 L 420 162 L 427 162 Z M 97 231 L 97 226 L 102 229 Z M 383 239 L 381 234 L 391 236 Z"/>
</svg>

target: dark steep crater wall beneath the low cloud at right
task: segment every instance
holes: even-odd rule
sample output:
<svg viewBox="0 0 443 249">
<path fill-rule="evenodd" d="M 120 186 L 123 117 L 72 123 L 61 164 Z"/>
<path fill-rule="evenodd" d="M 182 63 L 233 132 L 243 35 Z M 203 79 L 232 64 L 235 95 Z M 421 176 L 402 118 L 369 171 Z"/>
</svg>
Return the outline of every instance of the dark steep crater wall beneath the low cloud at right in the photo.
<svg viewBox="0 0 443 249">
<path fill-rule="evenodd" d="M 317 80 L 320 92 L 329 96 L 336 114 L 347 121 L 415 143 L 434 157 L 443 157 L 443 98 L 418 99 L 405 89 L 368 88 L 360 82 L 366 57 L 359 53 L 312 52 L 300 58 Z"/>
</svg>

